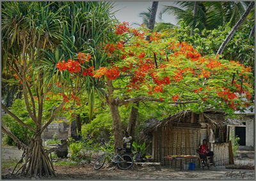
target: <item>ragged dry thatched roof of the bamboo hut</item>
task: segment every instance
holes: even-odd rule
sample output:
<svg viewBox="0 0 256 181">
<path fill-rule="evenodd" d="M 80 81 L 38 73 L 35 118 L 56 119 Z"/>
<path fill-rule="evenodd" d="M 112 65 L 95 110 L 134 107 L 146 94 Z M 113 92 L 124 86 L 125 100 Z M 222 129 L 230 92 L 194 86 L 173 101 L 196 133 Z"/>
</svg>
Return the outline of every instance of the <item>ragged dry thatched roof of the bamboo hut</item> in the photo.
<svg viewBox="0 0 256 181">
<path fill-rule="evenodd" d="M 202 116 L 200 122 L 195 124 L 190 124 L 185 120 L 188 120 L 189 117 L 192 115 L 191 110 L 187 111 L 180 111 L 175 113 L 174 115 L 170 115 L 166 119 L 158 120 L 158 119 L 150 119 L 148 123 L 145 125 L 145 129 L 143 130 L 144 133 L 150 133 L 157 127 L 163 127 L 169 123 L 175 123 L 177 126 L 186 126 L 189 125 L 190 127 L 199 127 L 202 124 L 211 124 L 212 127 L 223 127 L 227 125 L 241 125 L 241 121 L 239 119 L 231 119 L 227 117 L 227 113 L 216 111 L 216 110 L 207 110 L 204 113 L 199 115 Z M 198 121 L 198 120 L 197 120 Z"/>
</svg>

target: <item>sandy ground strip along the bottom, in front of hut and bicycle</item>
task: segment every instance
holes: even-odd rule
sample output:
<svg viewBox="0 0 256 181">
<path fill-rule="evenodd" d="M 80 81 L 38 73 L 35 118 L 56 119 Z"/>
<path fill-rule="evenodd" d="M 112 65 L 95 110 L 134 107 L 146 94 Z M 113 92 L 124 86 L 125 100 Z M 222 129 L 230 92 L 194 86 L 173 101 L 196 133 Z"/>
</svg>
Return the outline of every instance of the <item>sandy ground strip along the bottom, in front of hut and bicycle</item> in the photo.
<svg viewBox="0 0 256 181">
<path fill-rule="evenodd" d="M 2 162 L 8 160 L 19 159 L 22 151 L 17 148 L 2 147 Z M 248 161 L 246 161 L 248 160 Z M 237 162 L 238 161 L 238 162 Z M 243 158 L 246 163 L 253 163 L 252 158 Z M 131 170 L 120 170 L 118 168 L 102 168 L 94 170 L 92 164 L 76 165 L 76 166 L 54 166 L 56 171 L 55 178 L 51 179 L 254 179 L 254 170 L 231 170 L 226 169 L 225 166 L 212 167 L 210 170 L 187 170 L 187 171 L 174 171 L 173 168 L 164 166 L 133 166 Z M 3 179 L 20 179 L 17 175 L 10 175 L 12 169 L 2 168 Z M 33 178 L 32 178 L 33 179 Z M 47 179 L 47 178 L 44 178 Z M 49 179 L 49 178 L 48 178 Z"/>
</svg>

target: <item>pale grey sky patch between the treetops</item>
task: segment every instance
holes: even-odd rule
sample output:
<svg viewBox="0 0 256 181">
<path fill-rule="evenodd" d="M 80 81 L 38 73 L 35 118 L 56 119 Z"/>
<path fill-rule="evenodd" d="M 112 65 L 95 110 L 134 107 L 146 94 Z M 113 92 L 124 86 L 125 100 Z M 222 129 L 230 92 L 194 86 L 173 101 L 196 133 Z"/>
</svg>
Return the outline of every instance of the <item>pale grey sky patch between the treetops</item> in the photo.
<svg viewBox="0 0 256 181">
<path fill-rule="evenodd" d="M 174 5 L 174 1 L 159 1 L 157 8 L 156 22 L 160 22 L 158 14 L 163 10 L 164 5 Z M 139 17 L 139 14 L 143 11 L 147 11 L 147 8 L 152 6 L 152 1 L 115 1 L 114 11 L 119 10 L 115 13 L 116 18 L 120 22 L 129 22 L 130 25 L 136 27 L 132 23 L 142 24 L 142 18 Z M 172 24 L 177 24 L 177 20 L 173 15 L 168 15 L 165 13 L 163 15 L 163 20 L 161 22 L 170 22 Z"/>
</svg>

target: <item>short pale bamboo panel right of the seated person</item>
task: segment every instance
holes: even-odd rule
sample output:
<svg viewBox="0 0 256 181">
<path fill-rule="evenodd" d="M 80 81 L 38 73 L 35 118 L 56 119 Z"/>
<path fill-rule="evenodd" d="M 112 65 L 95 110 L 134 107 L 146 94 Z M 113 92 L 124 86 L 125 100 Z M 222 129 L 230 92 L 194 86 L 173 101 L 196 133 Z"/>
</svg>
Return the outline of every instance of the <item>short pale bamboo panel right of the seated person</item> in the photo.
<svg viewBox="0 0 256 181">
<path fill-rule="evenodd" d="M 228 164 L 228 143 L 210 143 L 216 166 Z"/>
</svg>

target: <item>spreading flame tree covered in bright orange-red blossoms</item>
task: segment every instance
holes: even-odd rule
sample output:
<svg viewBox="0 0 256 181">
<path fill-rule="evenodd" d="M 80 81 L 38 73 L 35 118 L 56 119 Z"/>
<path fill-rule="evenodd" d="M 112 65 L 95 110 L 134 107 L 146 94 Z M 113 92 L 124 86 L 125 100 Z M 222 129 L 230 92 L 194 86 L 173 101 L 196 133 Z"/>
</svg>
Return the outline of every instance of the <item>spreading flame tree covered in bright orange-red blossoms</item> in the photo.
<svg viewBox="0 0 256 181">
<path fill-rule="evenodd" d="M 202 57 L 186 42 L 161 38 L 143 26 L 133 29 L 124 22 L 113 31 L 113 42 L 100 47 L 107 57 L 97 68 L 88 66 L 97 60 L 84 53 L 77 55 L 77 61 L 59 62 L 57 68 L 96 78 L 104 85 L 98 88 L 111 111 L 115 147 L 122 147 L 123 137 L 118 106 L 157 101 L 175 108 L 180 105 L 177 111 L 233 112 L 250 105 L 253 88 L 246 83 L 252 76 L 250 67 L 211 55 Z M 147 36 L 150 41 L 145 40 Z"/>
</svg>

